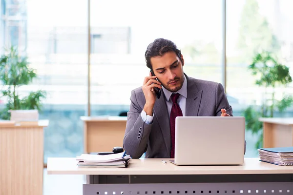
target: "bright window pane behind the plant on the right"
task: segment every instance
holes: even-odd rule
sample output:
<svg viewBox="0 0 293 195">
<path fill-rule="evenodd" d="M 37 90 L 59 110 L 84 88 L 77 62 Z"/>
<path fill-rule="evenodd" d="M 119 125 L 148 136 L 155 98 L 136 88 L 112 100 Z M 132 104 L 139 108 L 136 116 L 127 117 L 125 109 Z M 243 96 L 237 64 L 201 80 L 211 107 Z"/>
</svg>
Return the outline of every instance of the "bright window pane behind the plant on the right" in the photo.
<svg viewBox="0 0 293 195">
<path fill-rule="evenodd" d="M 292 67 L 292 6 L 290 0 L 227 0 L 227 93 L 234 98 L 235 116 L 249 105 L 259 107 L 265 98 L 265 88 L 255 84 L 256 77 L 248 69 L 257 53 L 271 52 L 280 63 Z M 277 86 L 275 98 L 285 92 L 293 93 L 291 88 Z M 283 114 L 276 112 L 274 117 L 290 115 L 292 108 Z M 257 156 L 259 136 L 247 131 L 247 157 Z"/>
</svg>

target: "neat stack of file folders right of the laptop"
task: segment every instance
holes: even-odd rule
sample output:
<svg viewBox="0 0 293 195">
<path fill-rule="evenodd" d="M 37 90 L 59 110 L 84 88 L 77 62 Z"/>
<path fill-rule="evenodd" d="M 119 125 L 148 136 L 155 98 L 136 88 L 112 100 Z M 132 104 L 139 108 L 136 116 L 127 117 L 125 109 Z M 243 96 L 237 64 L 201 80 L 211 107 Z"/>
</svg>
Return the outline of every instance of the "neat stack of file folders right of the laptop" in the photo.
<svg viewBox="0 0 293 195">
<path fill-rule="evenodd" d="M 276 165 L 293 165 L 293 147 L 260 148 L 259 160 Z"/>
</svg>

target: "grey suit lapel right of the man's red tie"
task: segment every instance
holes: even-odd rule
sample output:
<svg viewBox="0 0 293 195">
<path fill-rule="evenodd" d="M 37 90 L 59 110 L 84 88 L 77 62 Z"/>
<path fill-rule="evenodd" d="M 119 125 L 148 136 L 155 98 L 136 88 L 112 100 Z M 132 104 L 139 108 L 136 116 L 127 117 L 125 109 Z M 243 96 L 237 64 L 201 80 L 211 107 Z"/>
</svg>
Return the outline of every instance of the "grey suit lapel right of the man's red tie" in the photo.
<svg viewBox="0 0 293 195">
<path fill-rule="evenodd" d="M 198 116 L 198 110 L 202 98 L 202 90 L 198 90 L 196 83 L 187 76 L 187 98 L 186 98 L 186 113 L 187 117 Z"/>
</svg>

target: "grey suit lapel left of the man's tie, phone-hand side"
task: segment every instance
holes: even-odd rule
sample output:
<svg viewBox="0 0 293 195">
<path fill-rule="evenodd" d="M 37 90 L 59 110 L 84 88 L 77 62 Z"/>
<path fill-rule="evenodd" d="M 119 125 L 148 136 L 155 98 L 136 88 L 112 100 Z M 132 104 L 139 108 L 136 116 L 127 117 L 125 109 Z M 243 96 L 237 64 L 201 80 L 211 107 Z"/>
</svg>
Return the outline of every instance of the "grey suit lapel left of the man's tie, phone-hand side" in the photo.
<svg viewBox="0 0 293 195">
<path fill-rule="evenodd" d="M 160 99 L 156 100 L 154 106 L 154 115 L 158 120 L 158 124 L 163 134 L 163 138 L 165 140 L 166 148 L 168 154 L 171 153 L 170 146 L 171 146 L 171 134 L 170 134 L 170 123 L 169 123 L 169 115 L 167 110 L 167 105 L 165 102 L 165 95 L 162 90 L 162 95 Z"/>
</svg>

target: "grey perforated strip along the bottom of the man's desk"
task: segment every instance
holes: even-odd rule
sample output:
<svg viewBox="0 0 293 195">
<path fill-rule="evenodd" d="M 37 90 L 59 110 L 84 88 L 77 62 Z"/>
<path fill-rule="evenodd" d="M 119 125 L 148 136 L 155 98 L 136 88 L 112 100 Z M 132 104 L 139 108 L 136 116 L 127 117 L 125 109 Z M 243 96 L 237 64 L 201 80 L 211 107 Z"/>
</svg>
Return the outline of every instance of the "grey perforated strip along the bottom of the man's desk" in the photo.
<svg viewBox="0 0 293 195">
<path fill-rule="evenodd" d="M 84 195 L 292 195 L 293 182 L 84 184 Z"/>
</svg>

